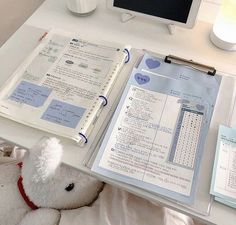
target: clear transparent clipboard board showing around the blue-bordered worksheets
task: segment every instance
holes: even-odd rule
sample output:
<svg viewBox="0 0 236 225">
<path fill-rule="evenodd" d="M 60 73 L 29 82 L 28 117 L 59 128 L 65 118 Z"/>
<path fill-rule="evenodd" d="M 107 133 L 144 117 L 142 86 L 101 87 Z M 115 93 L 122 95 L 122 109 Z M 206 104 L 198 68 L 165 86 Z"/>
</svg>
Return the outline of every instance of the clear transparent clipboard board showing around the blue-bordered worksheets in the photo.
<svg viewBox="0 0 236 225">
<path fill-rule="evenodd" d="M 135 49 L 131 50 L 131 62 L 122 70 L 122 73 L 126 74 L 127 80 L 132 71 L 132 68 L 137 67 L 137 65 L 139 65 L 140 60 L 142 59 L 144 53 L 145 51 L 143 50 L 135 50 Z M 164 58 L 163 56 L 160 56 L 156 53 L 151 53 L 151 54 L 153 56 Z M 192 69 L 194 70 L 199 69 L 196 68 L 195 66 L 204 67 L 205 65 L 197 63 L 196 65 L 194 65 Z M 186 65 L 186 67 L 189 67 L 189 65 Z M 180 201 L 173 200 L 172 198 L 164 197 L 160 194 L 147 191 L 132 184 L 127 184 L 125 182 L 117 181 L 112 177 L 103 176 L 93 171 L 91 171 L 91 173 L 107 183 L 116 185 L 124 190 L 127 190 L 141 197 L 147 198 L 153 202 L 160 203 L 164 206 L 169 206 L 173 209 L 178 207 L 178 210 L 180 211 L 182 210 L 183 212 L 190 211 L 199 215 L 205 215 L 205 216 L 209 215 L 211 210 L 211 205 L 213 202 L 213 198 L 209 194 L 209 191 L 210 191 L 210 182 L 212 176 L 212 167 L 214 163 L 218 126 L 219 124 L 230 125 L 231 118 L 233 115 L 234 100 L 235 100 L 235 90 L 234 90 L 235 79 L 227 74 L 224 74 L 223 72 L 215 71 L 213 67 L 210 67 L 210 69 L 213 73 L 216 72 L 217 75 L 222 76 L 222 79 L 210 127 L 204 144 L 204 150 L 200 163 L 200 169 L 196 184 L 196 193 L 193 204 L 182 203 Z M 124 84 L 121 85 L 122 87 L 125 86 L 126 84 L 126 81 L 119 81 L 119 82 L 124 82 Z M 123 88 L 121 88 L 120 90 L 120 95 L 122 94 L 122 92 Z M 112 106 L 112 111 L 114 111 L 115 108 L 117 107 L 117 101 L 119 100 L 120 95 L 117 96 L 116 101 L 114 101 L 114 104 Z M 101 130 L 105 129 L 105 126 L 106 125 L 104 124 L 104 127 Z M 91 150 L 88 151 L 87 156 L 84 159 L 84 166 L 89 169 L 91 169 L 94 164 L 94 160 L 97 156 L 99 148 L 103 142 L 103 138 L 106 134 L 107 127 L 105 131 L 102 133 L 101 138 L 96 139 L 96 141 L 94 141 L 94 143 L 92 144 L 93 146 L 96 147 L 90 148 Z"/>
</svg>

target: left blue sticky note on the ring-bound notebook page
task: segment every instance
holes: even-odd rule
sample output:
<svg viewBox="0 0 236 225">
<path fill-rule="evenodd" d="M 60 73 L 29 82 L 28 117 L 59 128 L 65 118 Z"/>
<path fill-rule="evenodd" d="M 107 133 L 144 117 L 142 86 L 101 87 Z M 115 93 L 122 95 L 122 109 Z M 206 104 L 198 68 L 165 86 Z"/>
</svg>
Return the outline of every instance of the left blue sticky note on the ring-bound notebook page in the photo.
<svg viewBox="0 0 236 225">
<path fill-rule="evenodd" d="M 51 91 L 52 90 L 47 87 L 21 81 L 9 99 L 34 107 L 40 107 L 44 104 Z"/>
</svg>

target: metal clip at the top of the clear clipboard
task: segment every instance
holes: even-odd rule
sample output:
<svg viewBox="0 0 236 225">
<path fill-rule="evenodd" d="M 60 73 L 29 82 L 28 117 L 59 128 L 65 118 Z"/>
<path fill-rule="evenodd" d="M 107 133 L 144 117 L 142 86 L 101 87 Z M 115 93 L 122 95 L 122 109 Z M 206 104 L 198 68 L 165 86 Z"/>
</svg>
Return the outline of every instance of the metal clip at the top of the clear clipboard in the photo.
<svg viewBox="0 0 236 225">
<path fill-rule="evenodd" d="M 198 62 L 194 62 L 193 60 L 187 60 L 187 59 L 180 58 L 180 57 L 173 56 L 173 55 L 166 56 L 164 62 L 189 66 L 189 67 L 192 67 L 196 70 L 200 70 L 202 72 L 205 72 L 211 76 L 214 76 L 216 74 L 216 69 L 212 66 L 207 66 L 207 65 L 204 65 L 204 64 L 201 64 Z"/>
</svg>

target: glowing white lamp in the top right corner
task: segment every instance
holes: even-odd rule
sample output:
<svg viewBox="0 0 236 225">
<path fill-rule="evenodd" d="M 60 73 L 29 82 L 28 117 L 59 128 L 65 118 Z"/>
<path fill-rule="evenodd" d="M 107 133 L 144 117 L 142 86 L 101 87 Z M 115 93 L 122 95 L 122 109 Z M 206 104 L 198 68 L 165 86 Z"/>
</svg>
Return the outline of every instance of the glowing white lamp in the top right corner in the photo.
<svg viewBox="0 0 236 225">
<path fill-rule="evenodd" d="M 236 0 L 222 1 L 210 38 L 217 47 L 236 51 Z"/>
</svg>

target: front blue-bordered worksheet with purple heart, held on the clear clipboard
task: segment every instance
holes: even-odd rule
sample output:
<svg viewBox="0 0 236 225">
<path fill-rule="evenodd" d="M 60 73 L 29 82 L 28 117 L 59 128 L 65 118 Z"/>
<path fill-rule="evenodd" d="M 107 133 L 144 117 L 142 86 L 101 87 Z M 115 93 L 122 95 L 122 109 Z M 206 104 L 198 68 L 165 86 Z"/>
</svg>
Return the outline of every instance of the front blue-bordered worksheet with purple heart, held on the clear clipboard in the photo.
<svg viewBox="0 0 236 225">
<path fill-rule="evenodd" d="M 133 69 L 92 170 L 193 203 L 214 93 L 195 82 Z"/>
</svg>

